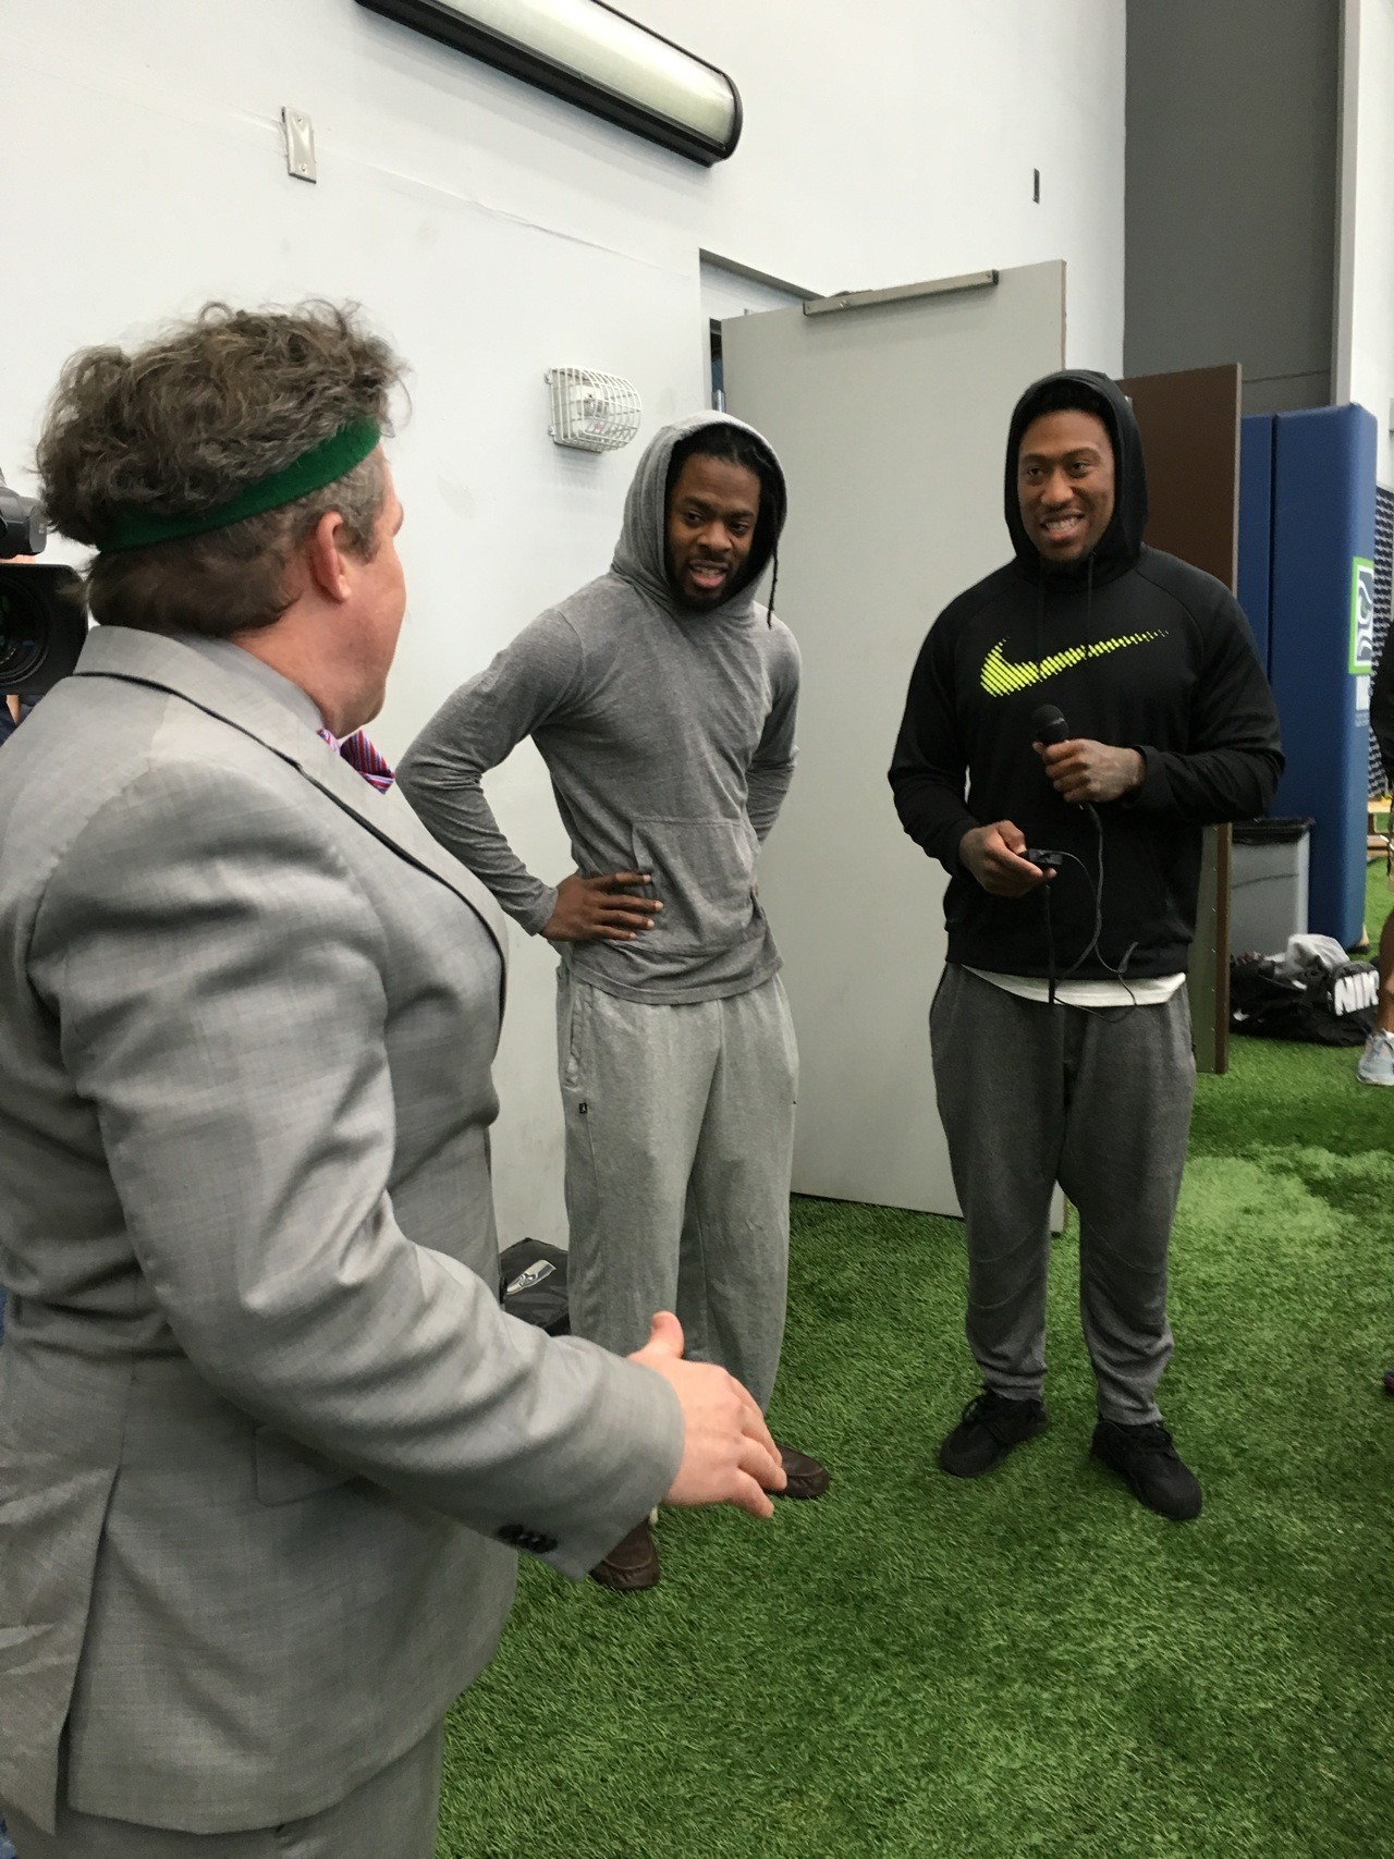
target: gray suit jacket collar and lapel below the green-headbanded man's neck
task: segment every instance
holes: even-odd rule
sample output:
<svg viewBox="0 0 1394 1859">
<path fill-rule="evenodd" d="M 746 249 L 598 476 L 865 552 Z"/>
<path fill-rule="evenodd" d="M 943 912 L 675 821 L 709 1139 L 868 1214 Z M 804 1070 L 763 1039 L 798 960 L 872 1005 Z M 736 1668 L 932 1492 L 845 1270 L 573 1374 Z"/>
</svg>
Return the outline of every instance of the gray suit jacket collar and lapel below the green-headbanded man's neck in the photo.
<svg viewBox="0 0 1394 1859">
<path fill-rule="evenodd" d="M 431 838 L 396 786 L 379 794 L 309 723 L 251 677 L 223 669 L 178 639 L 136 632 L 130 626 L 93 626 L 72 675 L 151 684 L 260 742 L 271 755 L 297 768 L 336 807 L 353 814 L 385 846 L 418 870 L 429 872 L 468 903 L 507 967 L 504 913 L 474 872 Z"/>
</svg>

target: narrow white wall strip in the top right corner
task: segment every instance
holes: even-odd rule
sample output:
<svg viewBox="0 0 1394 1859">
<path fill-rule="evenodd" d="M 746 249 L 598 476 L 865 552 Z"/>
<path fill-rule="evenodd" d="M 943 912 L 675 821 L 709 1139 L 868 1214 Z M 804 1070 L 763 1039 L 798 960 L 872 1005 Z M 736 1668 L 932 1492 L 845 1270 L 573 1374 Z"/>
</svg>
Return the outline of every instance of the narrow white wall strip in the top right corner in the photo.
<svg viewBox="0 0 1394 1859">
<path fill-rule="evenodd" d="M 1394 0 L 1346 0 L 1338 402 L 1379 424 L 1379 481 L 1394 485 Z"/>
</svg>

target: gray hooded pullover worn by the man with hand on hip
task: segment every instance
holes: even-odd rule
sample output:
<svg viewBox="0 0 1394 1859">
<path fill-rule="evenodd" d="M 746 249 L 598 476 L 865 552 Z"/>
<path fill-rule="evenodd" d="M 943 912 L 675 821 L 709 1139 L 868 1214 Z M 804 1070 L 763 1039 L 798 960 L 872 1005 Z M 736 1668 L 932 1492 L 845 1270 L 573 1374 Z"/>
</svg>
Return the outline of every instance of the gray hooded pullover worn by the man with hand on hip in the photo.
<svg viewBox="0 0 1394 1859">
<path fill-rule="evenodd" d="M 682 612 L 665 567 L 667 467 L 708 424 L 742 426 L 719 413 L 665 426 L 639 459 L 610 573 L 448 697 L 398 768 L 431 833 L 535 935 L 556 887 L 513 853 L 480 786 L 532 736 L 576 868 L 649 872 L 664 903 L 634 943 L 569 943 L 563 959 L 576 980 L 654 1004 L 740 995 L 779 969 L 755 859 L 794 777 L 799 651 L 753 587 L 779 541 L 784 478 L 760 439 L 779 496 L 742 584 L 710 613 Z"/>
</svg>

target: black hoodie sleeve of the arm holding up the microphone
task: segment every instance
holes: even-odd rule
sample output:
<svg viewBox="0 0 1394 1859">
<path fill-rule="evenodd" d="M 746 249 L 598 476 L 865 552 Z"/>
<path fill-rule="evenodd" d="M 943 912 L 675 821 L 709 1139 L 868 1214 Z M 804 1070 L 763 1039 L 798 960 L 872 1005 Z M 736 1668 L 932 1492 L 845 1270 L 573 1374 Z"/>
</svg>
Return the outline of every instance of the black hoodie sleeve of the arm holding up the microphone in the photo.
<svg viewBox="0 0 1394 1859">
<path fill-rule="evenodd" d="M 1273 799 L 1282 773 L 1273 693 L 1238 600 L 1227 593 L 1206 630 L 1191 699 L 1190 747 L 1178 753 L 1136 744 L 1147 773 L 1124 803 L 1191 825 L 1256 818 Z"/>
</svg>

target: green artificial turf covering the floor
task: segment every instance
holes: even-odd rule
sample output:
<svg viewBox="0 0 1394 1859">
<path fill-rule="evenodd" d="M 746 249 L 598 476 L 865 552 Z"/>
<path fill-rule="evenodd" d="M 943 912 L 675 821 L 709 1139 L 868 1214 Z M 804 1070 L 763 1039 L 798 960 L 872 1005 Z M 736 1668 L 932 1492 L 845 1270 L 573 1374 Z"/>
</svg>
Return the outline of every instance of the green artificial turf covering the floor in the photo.
<svg viewBox="0 0 1394 1859">
<path fill-rule="evenodd" d="M 1394 898 L 1372 876 L 1370 933 Z M 1201 1080 L 1162 1404 L 1169 1524 L 1052 1430 L 935 1467 L 974 1391 L 953 1221 L 796 1201 L 771 1420 L 831 1493 L 660 1521 L 649 1595 L 522 1567 L 450 1720 L 442 1859 L 1366 1859 L 1394 1848 L 1394 1093 L 1236 1041 Z"/>
</svg>

